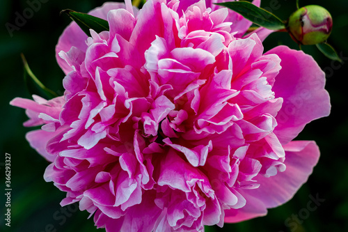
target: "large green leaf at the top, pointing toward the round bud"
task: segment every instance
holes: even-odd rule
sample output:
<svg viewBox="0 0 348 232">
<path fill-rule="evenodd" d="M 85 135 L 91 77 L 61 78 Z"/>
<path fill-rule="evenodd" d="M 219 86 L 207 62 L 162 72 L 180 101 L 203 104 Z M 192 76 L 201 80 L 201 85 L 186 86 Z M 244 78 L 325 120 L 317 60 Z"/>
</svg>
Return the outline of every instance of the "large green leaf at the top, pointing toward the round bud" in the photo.
<svg viewBox="0 0 348 232">
<path fill-rule="evenodd" d="M 259 8 L 248 1 L 230 1 L 216 3 L 219 6 L 226 6 L 231 10 L 241 14 L 247 20 L 264 28 L 278 31 L 285 29 L 285 23 L 267 10 Z"/>
</svg>

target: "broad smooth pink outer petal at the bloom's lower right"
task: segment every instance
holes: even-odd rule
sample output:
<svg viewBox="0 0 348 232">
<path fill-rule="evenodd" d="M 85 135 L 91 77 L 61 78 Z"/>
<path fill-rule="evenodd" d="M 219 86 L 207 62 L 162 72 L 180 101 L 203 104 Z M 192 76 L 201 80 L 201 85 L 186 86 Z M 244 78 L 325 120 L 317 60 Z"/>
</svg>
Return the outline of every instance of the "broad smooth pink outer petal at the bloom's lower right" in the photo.
<svg viewBox="0 0 348 232">
<path fill-rule="evenodd" d="M 292 199 L 319 159 L 319 148 L 314 141 L 291 141 L 285 149 L 286 170 L 276 176 L 254 178 L 260 183 L 255 190 L 244 190 L 246 206 L 238 210 L 226 210 L 225 222 L 241 222 L 267 214 L 267 208 L 274 208 Z"/>
</svg>

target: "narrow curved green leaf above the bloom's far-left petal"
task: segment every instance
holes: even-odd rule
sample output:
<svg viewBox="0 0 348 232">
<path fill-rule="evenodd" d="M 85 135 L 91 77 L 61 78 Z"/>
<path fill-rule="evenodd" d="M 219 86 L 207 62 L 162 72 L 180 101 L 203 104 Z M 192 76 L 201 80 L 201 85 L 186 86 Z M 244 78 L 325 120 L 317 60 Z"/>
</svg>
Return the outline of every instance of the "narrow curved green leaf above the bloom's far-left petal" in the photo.
<svg viewBox="0 0 348 232">
<path fill-rule="evenodd" d="M 58 95 L 47 88 L 38 77 L 35 77 L 31 69 L 29 68 L 28 62 L 26 62 L 24 54 L 21 54 L 22 61 L 24 64 L 24 82 L 26 84 L 26 87 L 28 88 L 29 93 L 36 94 L 36 95 L 45 95 L 45 97 L 52 99 L 58 97 Z"/>
</svg>

